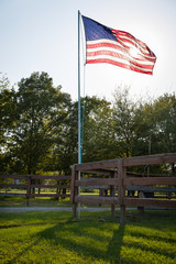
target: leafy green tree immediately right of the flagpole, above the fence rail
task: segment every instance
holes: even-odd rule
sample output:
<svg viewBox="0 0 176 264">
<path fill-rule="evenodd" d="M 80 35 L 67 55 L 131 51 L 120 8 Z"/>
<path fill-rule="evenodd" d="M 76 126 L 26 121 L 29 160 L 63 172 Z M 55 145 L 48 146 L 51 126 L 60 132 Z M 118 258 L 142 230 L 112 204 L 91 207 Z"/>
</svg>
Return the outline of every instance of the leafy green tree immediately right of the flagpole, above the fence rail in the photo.
<svg viewBox="0 0 176 264">
<path fill-rule="evenodd" d="M 113 136 L 111 103 L 86 97 L 82 162 L 114 158 Z"/>
</svg>

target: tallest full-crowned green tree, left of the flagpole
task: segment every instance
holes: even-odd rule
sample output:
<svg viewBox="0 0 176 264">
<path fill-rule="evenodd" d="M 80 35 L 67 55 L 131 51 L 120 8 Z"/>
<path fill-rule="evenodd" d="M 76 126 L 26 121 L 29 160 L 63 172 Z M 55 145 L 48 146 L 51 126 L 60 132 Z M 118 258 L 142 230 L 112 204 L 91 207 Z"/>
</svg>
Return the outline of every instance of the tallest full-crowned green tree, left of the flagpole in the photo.
<svg viewBox="0 0 176 264">
<path fill-rule="evenodd" d="M 21 79 L 16 92 L 16 125 L 10 144 L 14 169 L 35 174 L 50 155 L 67 117 L 67 95 L 54 87 L 46 73 Z"/>
</svg>

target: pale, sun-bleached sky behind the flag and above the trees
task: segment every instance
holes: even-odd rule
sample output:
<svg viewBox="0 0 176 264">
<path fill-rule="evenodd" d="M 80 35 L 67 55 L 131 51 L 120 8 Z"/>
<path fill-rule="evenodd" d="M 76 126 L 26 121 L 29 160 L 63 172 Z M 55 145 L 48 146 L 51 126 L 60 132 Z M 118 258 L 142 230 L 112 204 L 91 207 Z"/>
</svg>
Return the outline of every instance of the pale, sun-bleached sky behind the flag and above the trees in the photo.
<svg viewBox="0 0 176 264">
<path fill-rule="evenodd" d="M 131 33 L 157 57 L 153 76 L 110 64 L 86 65 L 81 96 L 111 100 L 118 86 L 130 86 L 135 99 L 176 91 L 175 0 L 0 0 L 0 72 L 11 85 L 45 72 L 77 100 L 78 10 Z"/>
</svg>

